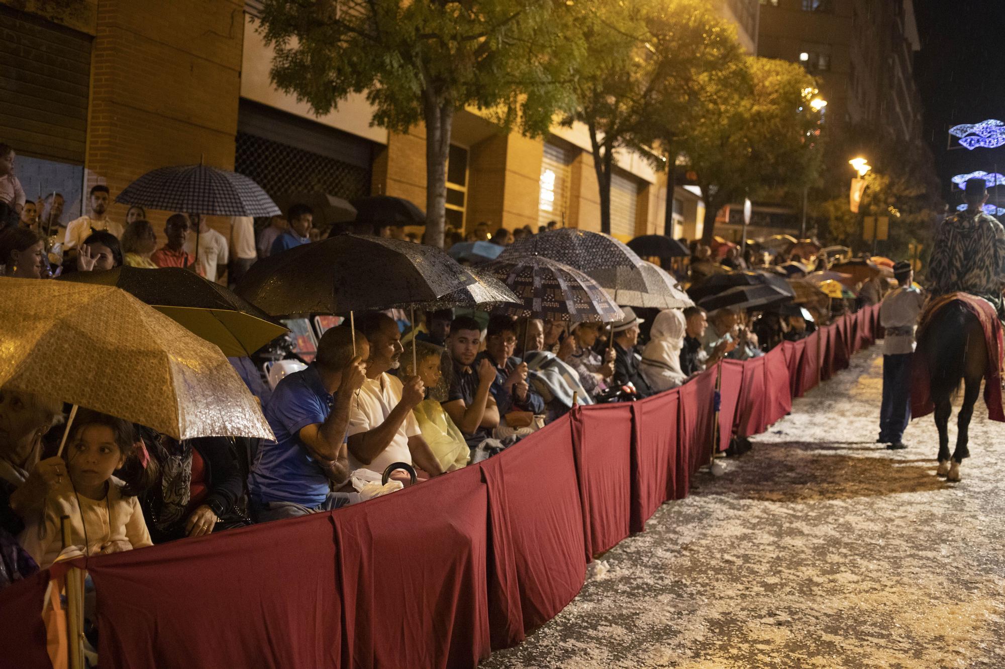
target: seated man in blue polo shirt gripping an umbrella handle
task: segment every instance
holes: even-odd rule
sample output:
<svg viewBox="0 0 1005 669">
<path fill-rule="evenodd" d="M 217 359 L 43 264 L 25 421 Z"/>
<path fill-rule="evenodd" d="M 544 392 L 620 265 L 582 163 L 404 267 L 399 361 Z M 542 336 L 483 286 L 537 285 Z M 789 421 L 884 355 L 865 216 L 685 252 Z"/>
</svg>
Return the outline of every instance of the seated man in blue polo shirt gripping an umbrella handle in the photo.
<svg viewBox="0 0 1005 669">
<path fill-rule="evenodd" d="M 332 483 L 349 478 L 346 434 L 353 396 L 366 380 L 369 344 L 352 330 L 333 327 L 318 344 L 318 357 L 303 372 L 275 387 L 265 420 L 275 441 L 258 447 L 248 490 L 259 522 L 327 511 L 347 503 L 349 495 L 332 492 Z"/>
</svg>

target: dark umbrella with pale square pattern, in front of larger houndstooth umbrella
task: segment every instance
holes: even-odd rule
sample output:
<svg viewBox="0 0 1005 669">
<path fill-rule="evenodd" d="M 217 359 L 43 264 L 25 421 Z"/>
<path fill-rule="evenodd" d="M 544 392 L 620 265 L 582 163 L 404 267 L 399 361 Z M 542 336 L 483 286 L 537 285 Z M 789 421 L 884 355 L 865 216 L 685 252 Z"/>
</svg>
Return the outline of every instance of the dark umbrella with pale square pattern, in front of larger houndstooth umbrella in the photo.
<svg viewBox="0 0 1005 669">
<path fill-rule="evenodd" d="M 537 255 L 499 257 L 484 271 L 506 283 L 522 304 L 496 311 L 547 320 L 610 322 L 624 317 L 618 305 L 583 272 Z"/>
</svg>

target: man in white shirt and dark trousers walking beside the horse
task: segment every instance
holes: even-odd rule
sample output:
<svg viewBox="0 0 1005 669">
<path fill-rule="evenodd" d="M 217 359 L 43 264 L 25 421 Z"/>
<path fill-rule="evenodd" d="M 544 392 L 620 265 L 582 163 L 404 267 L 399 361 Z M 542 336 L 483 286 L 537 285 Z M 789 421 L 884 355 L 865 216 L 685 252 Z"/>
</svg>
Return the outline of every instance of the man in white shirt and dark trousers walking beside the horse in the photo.
<svg viewBox="0 0 1005 669">
<path fill-rule="evenodd" d="M 900 286 L 879 305 L 879 324 L 885 328 L 882 344 L 882 407 L 879 438 L 890 450 L 907 448 L 901 441 L 911 421 L 911 360 L 915 355 L 915 325 L 925 305 L 925 294 L 912 286 L 911 264 L 893 265 Z"/>
</svg>

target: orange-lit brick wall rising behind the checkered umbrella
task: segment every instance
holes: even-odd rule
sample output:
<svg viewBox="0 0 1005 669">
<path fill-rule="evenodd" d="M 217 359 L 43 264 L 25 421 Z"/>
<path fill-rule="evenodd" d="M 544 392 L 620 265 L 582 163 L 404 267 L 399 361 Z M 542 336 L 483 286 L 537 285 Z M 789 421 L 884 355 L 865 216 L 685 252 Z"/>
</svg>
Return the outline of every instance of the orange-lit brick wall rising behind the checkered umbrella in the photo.
<svg viewBox="0 0 1005 669">
<path fill-rule="evenodd" d="M 144 173 L 198 163 L 233 169 L 243 3 L 98 0 L 87 186 L 113 198 Z M 128 207 L 113 205 L 124 220 Z M 148 212 L 161 232 L 172 212 Z M 213 227 L 229 236 L 229 220 Z"/>
</svg>

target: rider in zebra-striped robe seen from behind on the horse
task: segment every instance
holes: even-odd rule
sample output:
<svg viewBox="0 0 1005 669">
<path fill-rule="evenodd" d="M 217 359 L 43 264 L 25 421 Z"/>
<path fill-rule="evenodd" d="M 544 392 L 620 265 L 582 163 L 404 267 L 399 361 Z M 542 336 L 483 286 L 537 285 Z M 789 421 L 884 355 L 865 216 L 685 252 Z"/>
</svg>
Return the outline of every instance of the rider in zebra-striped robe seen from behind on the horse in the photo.
<svg viewBox="0 0 1005 669">
<path fill-rule="evenodd" d="M 994 305 L 1005 320 L 1002 282 L 1005 280 L 1005 228 L 984 212 L 988 201 L 984 179 L 969 179 L 964 189 L 967 210 L 947 218 L 936 235 L 929 262 L 933 297 L 969 292 Z"/>
</svg>

